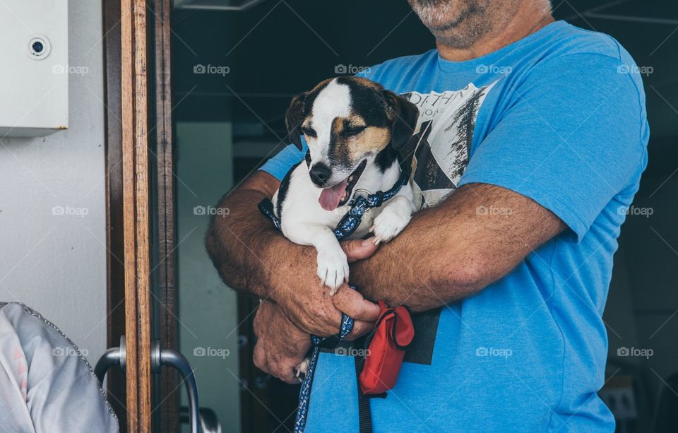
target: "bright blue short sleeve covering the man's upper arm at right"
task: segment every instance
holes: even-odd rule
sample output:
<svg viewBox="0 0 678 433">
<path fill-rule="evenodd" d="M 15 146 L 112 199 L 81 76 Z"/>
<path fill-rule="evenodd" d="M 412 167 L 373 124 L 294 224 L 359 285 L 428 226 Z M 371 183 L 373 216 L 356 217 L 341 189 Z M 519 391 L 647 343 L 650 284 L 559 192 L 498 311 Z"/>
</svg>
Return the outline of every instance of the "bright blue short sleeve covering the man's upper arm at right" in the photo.
<svg viewBox="0 0 678 433">
<path fill-rule="evenodd" d="M 588 232 L 644 168 L 642 84 L 613 57 L 571 54 L 535 66 L 492 131 L 475 145 L 460 185 L 495 184 Z"/>
</svg>

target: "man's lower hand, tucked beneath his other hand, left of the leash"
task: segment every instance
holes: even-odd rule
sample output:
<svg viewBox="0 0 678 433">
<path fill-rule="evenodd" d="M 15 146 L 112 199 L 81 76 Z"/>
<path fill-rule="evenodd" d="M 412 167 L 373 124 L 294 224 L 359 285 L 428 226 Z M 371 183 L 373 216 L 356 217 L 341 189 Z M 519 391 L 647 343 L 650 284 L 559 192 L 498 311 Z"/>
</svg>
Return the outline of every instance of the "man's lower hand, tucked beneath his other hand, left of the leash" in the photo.
<svg viewBox="0 0 678 433">
<path fill-rule="evenodd" d="M 288 384 L 297 384 L 295 367 L 311 348 L 308 333 L 297 328 L 278 305 L 262 301 L 254 317 L 254 365 Z"/>
</svg>

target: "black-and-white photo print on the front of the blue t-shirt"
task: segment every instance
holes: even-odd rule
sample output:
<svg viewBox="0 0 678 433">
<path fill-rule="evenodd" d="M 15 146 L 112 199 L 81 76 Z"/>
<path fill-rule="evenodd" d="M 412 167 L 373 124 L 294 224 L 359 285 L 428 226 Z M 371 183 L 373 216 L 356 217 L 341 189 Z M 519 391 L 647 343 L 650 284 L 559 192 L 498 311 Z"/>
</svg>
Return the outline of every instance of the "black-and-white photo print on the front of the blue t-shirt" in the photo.
<svg viewBox="0 0 678 433">
<path fill-rule="evenodd" d="M 451 194 L 461 179 L 471 150 L 480 106 L 494 83 L 477 88 L 470 83 L 462 90 L 444 93 L 403 93 L 419 108 L 417 148 L 412 158 L 415 200 L 423 208 L 436 206 Z M 415 340 L 405 362 L 431 364 L 441 309 L 413 314 Z"/>
</svg>

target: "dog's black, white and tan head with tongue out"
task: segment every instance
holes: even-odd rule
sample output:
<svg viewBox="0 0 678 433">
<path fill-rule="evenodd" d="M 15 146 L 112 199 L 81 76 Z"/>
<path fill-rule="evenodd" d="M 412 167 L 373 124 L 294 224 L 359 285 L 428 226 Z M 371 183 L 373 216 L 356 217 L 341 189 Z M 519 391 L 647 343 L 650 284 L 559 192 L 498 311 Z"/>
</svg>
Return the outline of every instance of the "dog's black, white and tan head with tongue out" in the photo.
<svg viewBox="0 0 678 433">
<path fill-rule="evenodd" d="M 405 148 L 417 124 L 417 107 L 366 78 L 331 78 L 292 99 L 285 123 L 290 140 L 309 146 L 311 181 L 320 203 L 333 210 L 349 201 L 368 164 L 388 146 Z M 310 158 L 308 158 L 310 156 Z"/>
</svg>

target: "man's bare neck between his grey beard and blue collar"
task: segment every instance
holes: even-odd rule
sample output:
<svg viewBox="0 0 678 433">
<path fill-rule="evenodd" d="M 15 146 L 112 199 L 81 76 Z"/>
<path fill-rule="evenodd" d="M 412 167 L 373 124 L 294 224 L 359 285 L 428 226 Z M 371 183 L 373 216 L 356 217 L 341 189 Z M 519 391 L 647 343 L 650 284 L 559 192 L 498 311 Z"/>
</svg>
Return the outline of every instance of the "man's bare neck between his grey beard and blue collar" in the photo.
<svg viewBox="0 0 678 433">
<path fill-rule="evenodd" d="M 530 4 L 530 2 L 526 1 L 524 4 Z M 554 18 L 549 13 L 535 13 L 534 8 L 523 6 L 501 32 L 487 35 L 471 47 L 454 48 L 439 41 L 436 41 L 436 47 L 440 56 L 445 60 L 465 61 L 475 59 L 521 40 L 553 22 Z"/>
</svg>

